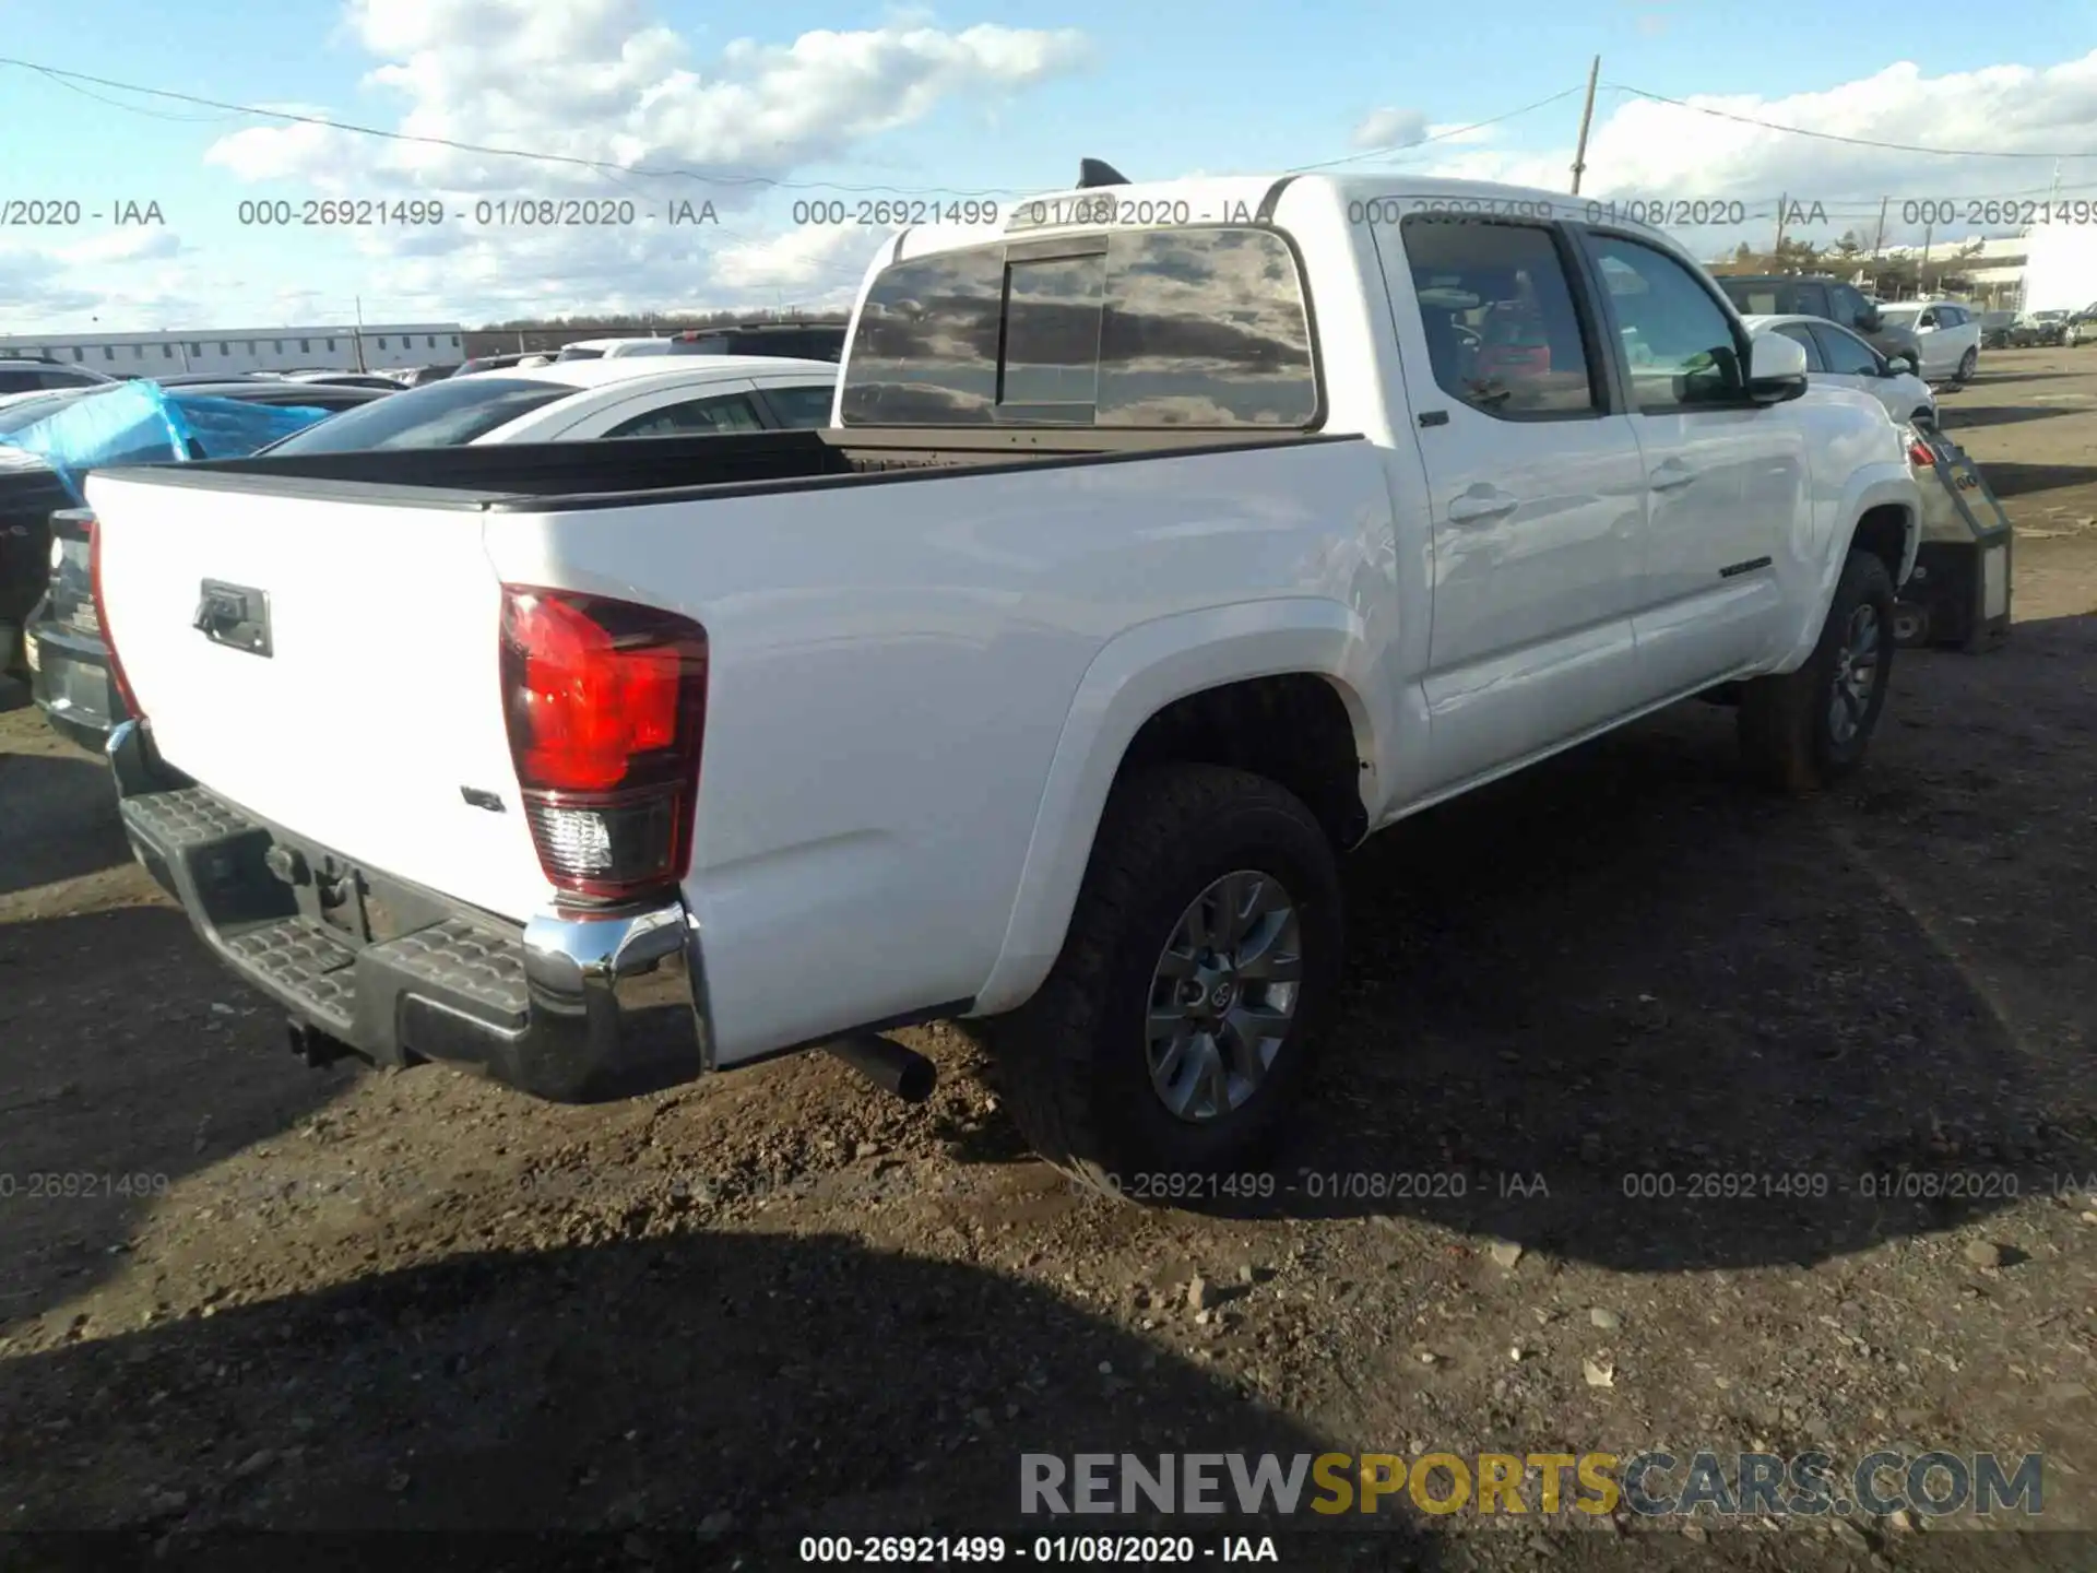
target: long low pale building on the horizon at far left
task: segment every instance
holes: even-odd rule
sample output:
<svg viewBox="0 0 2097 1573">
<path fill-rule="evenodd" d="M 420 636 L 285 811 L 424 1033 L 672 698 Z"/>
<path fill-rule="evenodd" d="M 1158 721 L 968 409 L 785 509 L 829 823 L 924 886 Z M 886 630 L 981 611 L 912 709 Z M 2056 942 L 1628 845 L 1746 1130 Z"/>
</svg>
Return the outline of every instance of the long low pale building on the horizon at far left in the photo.
<svg viewBox="0 0 2097 1573">
<path fill-rule="evenodd" d="M 0 357 L 29 354 L 151 378 L 172 371 L 384 371 L 457 365 L 459 323 L 365 323 L 363 327 L 189 327 L 174 333 L 0 333 Z"/>
</svg>

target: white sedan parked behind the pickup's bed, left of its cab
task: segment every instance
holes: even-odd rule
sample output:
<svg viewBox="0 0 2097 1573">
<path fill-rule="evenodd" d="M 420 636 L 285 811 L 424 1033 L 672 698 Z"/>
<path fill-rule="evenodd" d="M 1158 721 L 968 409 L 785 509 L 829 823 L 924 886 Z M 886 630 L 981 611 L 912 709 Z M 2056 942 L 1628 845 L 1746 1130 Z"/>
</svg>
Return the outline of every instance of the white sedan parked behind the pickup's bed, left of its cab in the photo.
<svg viewBox="0 0 2097 1573">
<path fill-rule="evenodd" d="M 702 436 L 830 424 L 837 365 L 774 354 L 606 359 L 476 371 L 377 398 L 268 453 Z"/>
</svg>

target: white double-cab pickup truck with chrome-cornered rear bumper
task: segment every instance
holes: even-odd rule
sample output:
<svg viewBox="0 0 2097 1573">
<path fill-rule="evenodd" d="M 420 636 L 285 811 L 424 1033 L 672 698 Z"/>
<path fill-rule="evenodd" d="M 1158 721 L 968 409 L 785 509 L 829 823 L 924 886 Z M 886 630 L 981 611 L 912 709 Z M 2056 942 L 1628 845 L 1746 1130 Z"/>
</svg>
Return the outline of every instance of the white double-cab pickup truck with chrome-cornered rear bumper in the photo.
<svg viewBox="0 0 2097 1573">
<path fill-rule="evenodd" d="M 1248 1164 L 1336 858 L 1690 696 L 1852 766 L 1919 497 L 1665 235 L 1399 176 L 912 229 L 833 426 L 88 482 L 138 858 L 308 1055 L 554 1099 L 998 1017 L 1038 1151 Z"/>
</svg>

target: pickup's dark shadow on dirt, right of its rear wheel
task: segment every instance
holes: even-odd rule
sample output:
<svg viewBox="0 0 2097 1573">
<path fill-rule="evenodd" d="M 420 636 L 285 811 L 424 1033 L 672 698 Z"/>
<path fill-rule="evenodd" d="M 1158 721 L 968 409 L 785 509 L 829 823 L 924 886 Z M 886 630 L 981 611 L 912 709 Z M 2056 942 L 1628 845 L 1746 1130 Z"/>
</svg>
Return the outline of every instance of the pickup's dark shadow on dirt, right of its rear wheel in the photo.
<svg viewBox="0 0 2097 1573">
<path fill-rule="evenodd" d="M 1902 652 L 1782 801 L 1686 705 L 1346 864 L 1348 994 L 1235 1216 L 1424 1216 L 1615 1269 L 1812 1265 L 2097 1172 L 2097 619 Z"/>
</svg>

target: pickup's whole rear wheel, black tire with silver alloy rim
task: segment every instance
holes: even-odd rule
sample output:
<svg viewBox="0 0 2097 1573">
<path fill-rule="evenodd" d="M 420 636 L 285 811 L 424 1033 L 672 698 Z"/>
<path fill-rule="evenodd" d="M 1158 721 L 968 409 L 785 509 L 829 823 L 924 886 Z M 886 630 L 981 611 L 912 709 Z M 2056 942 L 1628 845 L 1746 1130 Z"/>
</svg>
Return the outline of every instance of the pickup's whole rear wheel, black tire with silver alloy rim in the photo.
<svg viewBox="0 0 2097 1573">
<path fill-rule="evenodd" d="M 1334 849 L 1292 793 L 1218 766 L 1120 782 L 1063 954 L 992 1023 L 1013 1118 L 1109 1195 L 1248 1168 L 1296 1103 L 1340 944 Z"/>
</svg>

